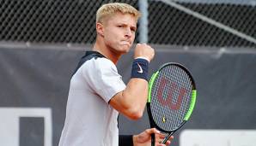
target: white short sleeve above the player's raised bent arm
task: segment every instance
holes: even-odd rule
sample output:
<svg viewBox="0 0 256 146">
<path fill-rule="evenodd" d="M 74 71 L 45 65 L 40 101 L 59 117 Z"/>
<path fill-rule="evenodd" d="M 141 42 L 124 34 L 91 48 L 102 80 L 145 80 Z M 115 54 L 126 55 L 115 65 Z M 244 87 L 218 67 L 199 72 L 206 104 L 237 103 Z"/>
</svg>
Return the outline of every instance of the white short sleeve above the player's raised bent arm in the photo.
<svg viewBox="0 0 256 146">
<path fill-rule="evenodd" d="M 114 95 L 124 91 L 126 87 L 117 67 L 107 58 L 93 58 L 88 61 L 88 66 L 82 68 L 82 75 L 105 102 L 109 102 Z"/>
</svg>

